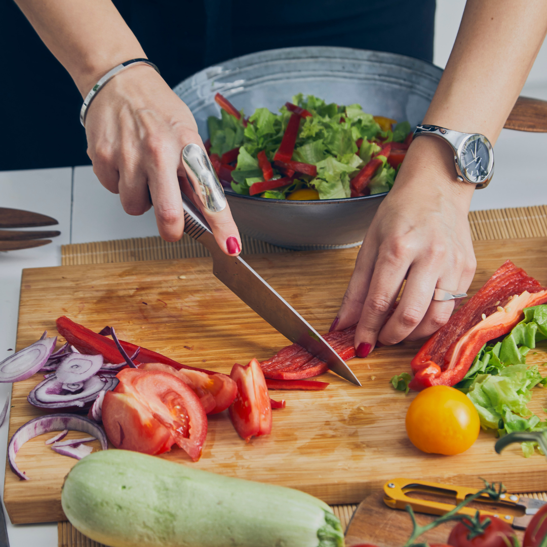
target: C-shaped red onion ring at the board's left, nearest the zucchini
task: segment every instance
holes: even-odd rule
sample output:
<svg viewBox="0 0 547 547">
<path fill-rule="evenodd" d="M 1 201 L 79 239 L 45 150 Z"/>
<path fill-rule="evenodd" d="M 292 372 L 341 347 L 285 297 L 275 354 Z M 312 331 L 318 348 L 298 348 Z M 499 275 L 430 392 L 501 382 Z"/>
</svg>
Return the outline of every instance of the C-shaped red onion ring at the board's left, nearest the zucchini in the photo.
<svg viewBox="0 0 547 547">
<path fill-rule="evenodd" d="M 101 448 L 103 450 L 108 449 L 108 441 L 104 431 L 97 426 L 96 423 L 88 420 L 88 418 L 75 414 L 48 414 L 27 422 L 13 434 L 13 437 L 11 437 L 8 445 L 8 462 L 11 470 L 20 479 L 28 480 L 25 473 L 21 472 L 15 463 L 15 456 L 19 452 L 21 446 L 24 445 L 26 441 L 33 439 L 42 433 L 50 433 L 52 431 L 64 429 L 72 429 L 94 435 L 94 437 L 101 442 Z M 91 447 L 88 447 L 88 449 L 89 448 Z M 64 447 L 64 450 L 67 450 L 66 447 Z"/>
</svg>

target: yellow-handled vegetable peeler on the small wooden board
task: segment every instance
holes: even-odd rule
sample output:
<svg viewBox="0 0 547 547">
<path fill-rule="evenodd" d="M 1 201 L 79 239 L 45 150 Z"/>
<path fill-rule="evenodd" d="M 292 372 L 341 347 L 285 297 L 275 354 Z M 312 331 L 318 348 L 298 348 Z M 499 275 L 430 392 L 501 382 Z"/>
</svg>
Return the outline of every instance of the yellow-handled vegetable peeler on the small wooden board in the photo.
<svg viewBox="0 0 547 547">
<path fill-rule="evenodd" d="M 414 479 L 392 479 L 383 486 L 383 501 L 392 509 L 405 509 L 410 505 L 416 513 L 444 515 L 458 503 L 479 491 L 479 488 L 468 488 L 428 482 Z M 483 494 L 473 504 L 463 507 L 459 514 L 474 516 L 495 516 L 504 520 L 513 528 L 525 529 L 538 509 L 545 505 L 540 499 L 525 498 L 510 494 L 501 494 L 499 502 Z"/>
</svg>

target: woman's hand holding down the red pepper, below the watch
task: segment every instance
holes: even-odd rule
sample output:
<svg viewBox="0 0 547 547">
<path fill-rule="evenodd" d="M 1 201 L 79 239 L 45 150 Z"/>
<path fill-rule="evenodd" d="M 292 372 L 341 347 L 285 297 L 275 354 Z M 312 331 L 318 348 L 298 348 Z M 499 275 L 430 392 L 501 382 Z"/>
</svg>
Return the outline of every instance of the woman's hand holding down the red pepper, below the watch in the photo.
<svg viewBox="0 0 547 547">
<path fill-rule="evenodd" d="M 448 321 L 454 301 L 434 289 L 464 293 L 476 261 L 467 213 L 474 185 L 456 180 L 449 146 L 434 137 L 412 142 L 393 189 L 361 247 L 333 327 L 358 322 L 355 346 L 366 357 L 376 341 L 426 337 Z M 397 309 L 386 322 L 406 279 Z M 385 324 L 384 324 L 385 323 Z"/>
</svg>

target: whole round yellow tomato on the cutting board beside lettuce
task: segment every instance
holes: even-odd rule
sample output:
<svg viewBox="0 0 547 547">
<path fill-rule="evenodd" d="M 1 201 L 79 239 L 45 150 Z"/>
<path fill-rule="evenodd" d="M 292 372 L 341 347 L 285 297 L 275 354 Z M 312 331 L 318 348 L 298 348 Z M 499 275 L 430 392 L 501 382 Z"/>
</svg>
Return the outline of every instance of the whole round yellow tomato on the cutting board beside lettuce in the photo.
<svg viewBox="0 0 547 547">
<path fill-rule="evenodd" d="M 433 454 L 465 452 L 480 430 L 473 403 L 448 386 L 432 386 L 418 393 L 406 412 L 405 423 L 412 444 Z"/>
</svg>

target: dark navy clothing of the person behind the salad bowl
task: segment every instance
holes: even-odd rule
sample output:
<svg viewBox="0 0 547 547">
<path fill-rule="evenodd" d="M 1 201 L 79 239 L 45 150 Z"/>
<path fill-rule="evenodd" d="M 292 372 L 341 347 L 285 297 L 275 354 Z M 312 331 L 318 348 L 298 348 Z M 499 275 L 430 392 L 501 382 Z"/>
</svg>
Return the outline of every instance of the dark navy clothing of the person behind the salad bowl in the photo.
<svg viewBox="0 0 547 547">
<path fill-rule="evenodd" d="M 171 86 L 266 49 L 333 45 L 433 60 L 435 0 L 114 0 Z M 0 171 L 89 164 L 82 98 L 12 0 L 0 0 Z"/>
</svg>

